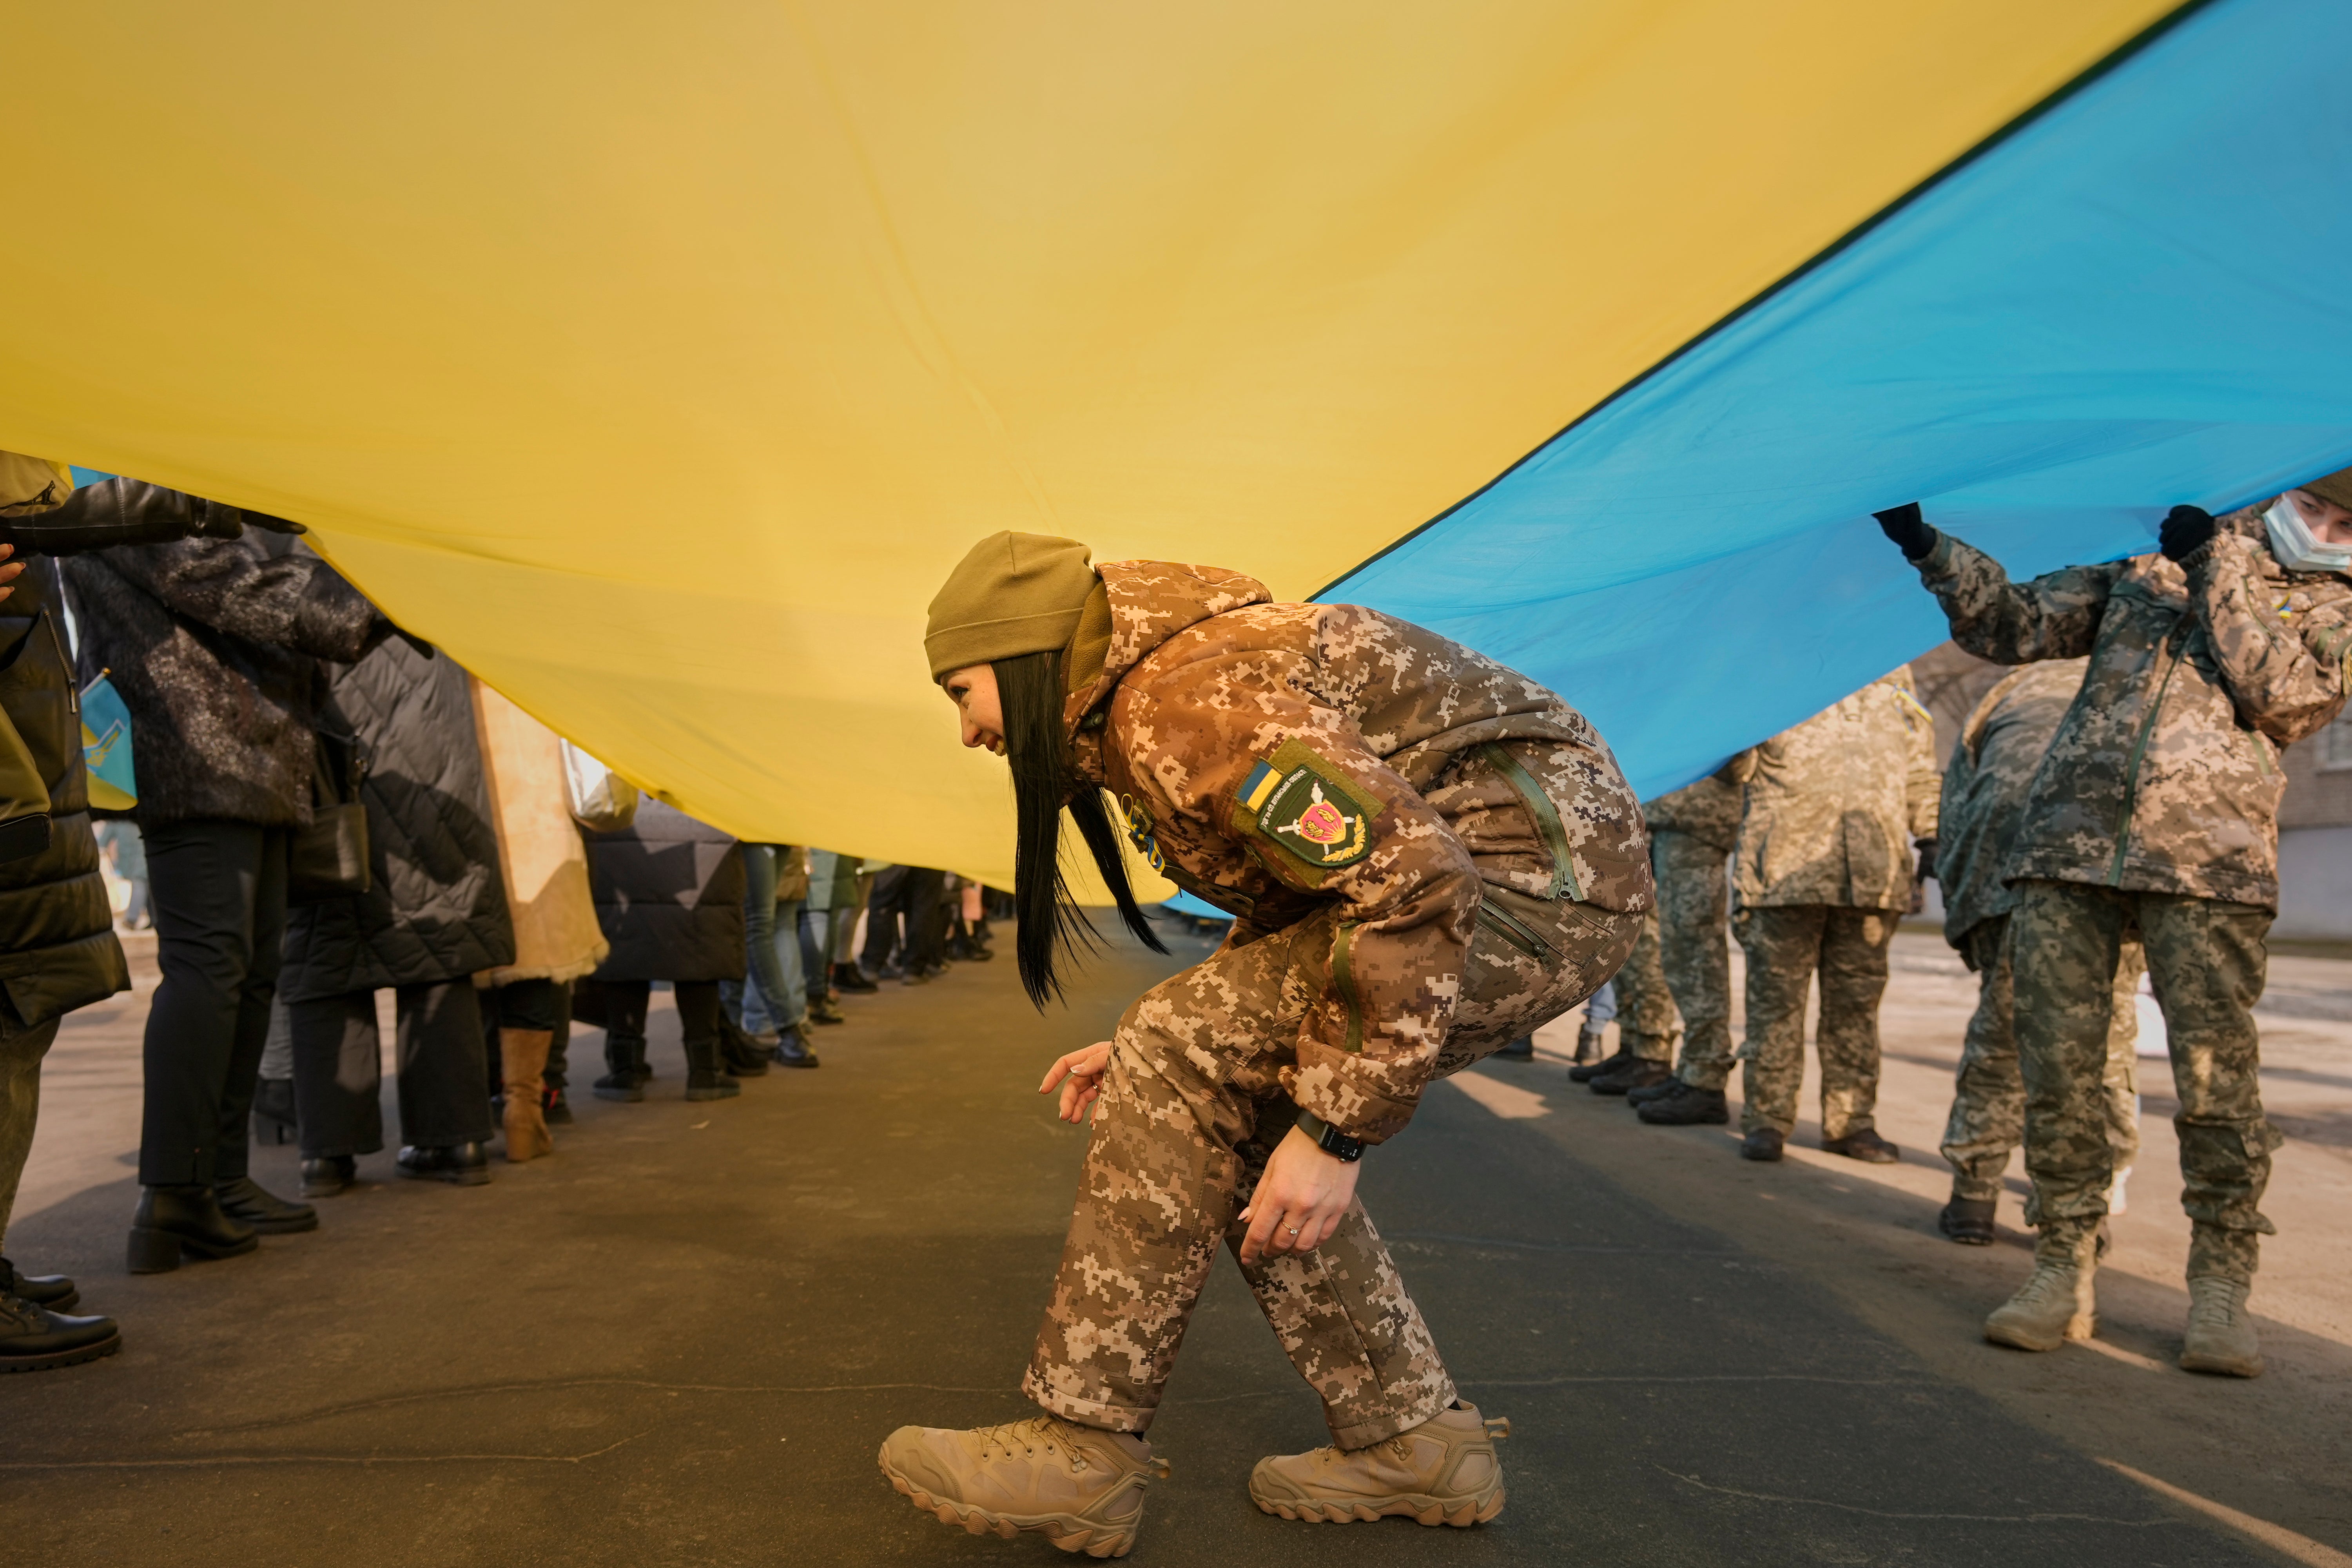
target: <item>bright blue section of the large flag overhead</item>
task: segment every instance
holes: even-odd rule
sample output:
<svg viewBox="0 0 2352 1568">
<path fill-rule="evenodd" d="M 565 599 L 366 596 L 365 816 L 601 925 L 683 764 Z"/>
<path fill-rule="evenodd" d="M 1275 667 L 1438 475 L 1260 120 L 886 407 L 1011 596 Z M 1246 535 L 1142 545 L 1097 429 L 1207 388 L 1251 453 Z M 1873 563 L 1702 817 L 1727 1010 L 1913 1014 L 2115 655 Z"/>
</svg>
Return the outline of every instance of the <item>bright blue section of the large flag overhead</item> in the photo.
<svg viewBox="0 0 2352 1568">
<path fill-rule="evenodd" d="M 2345 61 L 2347 5 L 2192 12 L 1322 597 L 1543 679 L 1651 797 L 1943 642 L 1872 510 L 2023 578 L 2352 463 Z"/>
</svg>

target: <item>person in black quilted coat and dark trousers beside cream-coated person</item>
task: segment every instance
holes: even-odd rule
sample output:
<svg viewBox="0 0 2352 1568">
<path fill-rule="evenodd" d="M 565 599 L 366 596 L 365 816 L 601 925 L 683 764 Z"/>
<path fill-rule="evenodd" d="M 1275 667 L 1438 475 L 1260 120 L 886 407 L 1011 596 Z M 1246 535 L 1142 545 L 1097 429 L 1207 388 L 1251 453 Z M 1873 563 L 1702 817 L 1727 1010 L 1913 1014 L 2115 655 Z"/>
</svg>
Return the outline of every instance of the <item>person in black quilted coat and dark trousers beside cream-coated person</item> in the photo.
<svg viewBox="0 0 2352 1568">
<path fill-rule="evenodd" d="M 334 1197 L 383 1147 L 376 992 L 397 1009 L 397 1171 L 489 1180 L 482 1009 L 473 978 L 515 961 L 489 785 L 461 668 L 386 642 L 327 682 L 327 733 L 367 759 L 365 893 L 296 905 L 278 994 L 294 1041 L 303 1197 Z"/>
</svg>

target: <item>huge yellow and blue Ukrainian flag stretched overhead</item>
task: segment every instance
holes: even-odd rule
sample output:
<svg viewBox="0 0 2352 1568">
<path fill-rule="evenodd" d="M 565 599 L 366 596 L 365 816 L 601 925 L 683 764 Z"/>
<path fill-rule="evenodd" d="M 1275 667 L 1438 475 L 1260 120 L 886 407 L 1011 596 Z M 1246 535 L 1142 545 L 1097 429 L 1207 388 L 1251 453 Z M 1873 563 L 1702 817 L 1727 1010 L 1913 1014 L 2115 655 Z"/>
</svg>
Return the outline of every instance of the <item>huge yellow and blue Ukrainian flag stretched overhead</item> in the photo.
<svg viewBox="0 0 2352 1568">
<path fill-rule="evenodd" d="M 310 522 L 748 837 L 1004 875 L 993 529 L 1327 590 L 1679 783 L 2352 461 L 2352 7 L 19 7 L 0 447 Z M 1432 522 L 1435 520 L 1435 522 Z"/>
</svg>

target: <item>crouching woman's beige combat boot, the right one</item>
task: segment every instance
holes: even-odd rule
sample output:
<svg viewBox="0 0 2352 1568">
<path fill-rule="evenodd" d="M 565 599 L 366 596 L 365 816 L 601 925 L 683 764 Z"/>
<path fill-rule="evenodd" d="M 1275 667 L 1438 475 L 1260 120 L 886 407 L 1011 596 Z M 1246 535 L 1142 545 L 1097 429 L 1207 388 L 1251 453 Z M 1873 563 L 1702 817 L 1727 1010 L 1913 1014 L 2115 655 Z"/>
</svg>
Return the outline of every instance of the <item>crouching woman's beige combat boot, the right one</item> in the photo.
<svg viewBox="0 0 2352 1568">
<path fill-rule="evenodd" d="M 1268 1514 L 1308 1523 L 1350 1523 L 1411 1514 L 1421 1523 L 1472 1526 L 1503 1512 L 1503 1462 L 1494 1443 L 1503 1418 L 1477 1406 L 1439 1410 L 1371 1448 L 1317 1448 L 1258 1460 L 1249 1497 Z"/>
</svg>

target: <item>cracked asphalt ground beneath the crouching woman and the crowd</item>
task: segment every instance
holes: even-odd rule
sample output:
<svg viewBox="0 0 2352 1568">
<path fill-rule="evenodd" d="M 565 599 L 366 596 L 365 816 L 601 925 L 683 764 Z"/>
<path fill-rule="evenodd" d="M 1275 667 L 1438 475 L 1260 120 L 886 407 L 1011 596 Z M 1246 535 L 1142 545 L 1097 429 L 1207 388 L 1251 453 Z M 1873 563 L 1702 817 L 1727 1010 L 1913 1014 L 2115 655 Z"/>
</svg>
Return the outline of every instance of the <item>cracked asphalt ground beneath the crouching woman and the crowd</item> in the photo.
<svg viewBox="0 0 2352 1568">
<path fill-rule="evenodd" d="M 1028 1413 L 1084 1140 L 1033 1086 L 1209 950 L 1174 945 L 1112 950 L 1042 1020 L 1009 954 L 854 997 L 821 1070 L 727 1103 L 677 1098 L 663 1011 L 652 1098 L 581 1095 L 555 1159 L 454 1190 L 395 1180 L 386 1152 L 315 1234 L 139 1279 L 146 992 L 82 1013 L 7 1251 L 73 1272 L 127 1347 L 0 1380 L 0 1563 L 1065 1561 L 917 1514 L 875 1446 Z M 2352 1352 L 2321 1305 L 2265 1321 L 2258 1382 L 2171 1371 L 2169 1173 L 2119 1222 L 2152 1262 L 2114 1276 L 2112 1345 L 1976 1340 L 2025 1251 L 1933 1237 L 1919 1128 L 1957 1053 L 1938 985 L 1898 973 L 1889 999 L 1886 1126 L 1919 1145 L 1903 1166 L 1802 1147 L 1748 1166 L 1724 1128 L 1642 1128 L 1559 1060 L 1432 1088 L 1362 1192 L 1465 1394 L 1512 1420 L 1510 1507 L 1472 1530 L 1258 1514 L 1251 1462 L 1324 1434 L 1218 1265 L 1152 1432 L 1174 1476 L 1129 1561 L 2352 1563 Z M 2328 1048 L 2298 1072 L 2328 1079 Z M 2171 1159 L 2150 1143 L 2143 1166 Z M 2336 1171 L 2296 1154 L 2274 1215 L 2288 1175 Z M 2345 1164 L 2324 1143 L 2310 1159 Z M 294 1150 L 259 1150 L 256 1175 L 292 1192 Z M 2288 1260 L 2324 1260 L 2288 1267 L 2281 1298 L 2340 1307 L 2340 1218 L 2281 1227 Z"/>
</svg>

